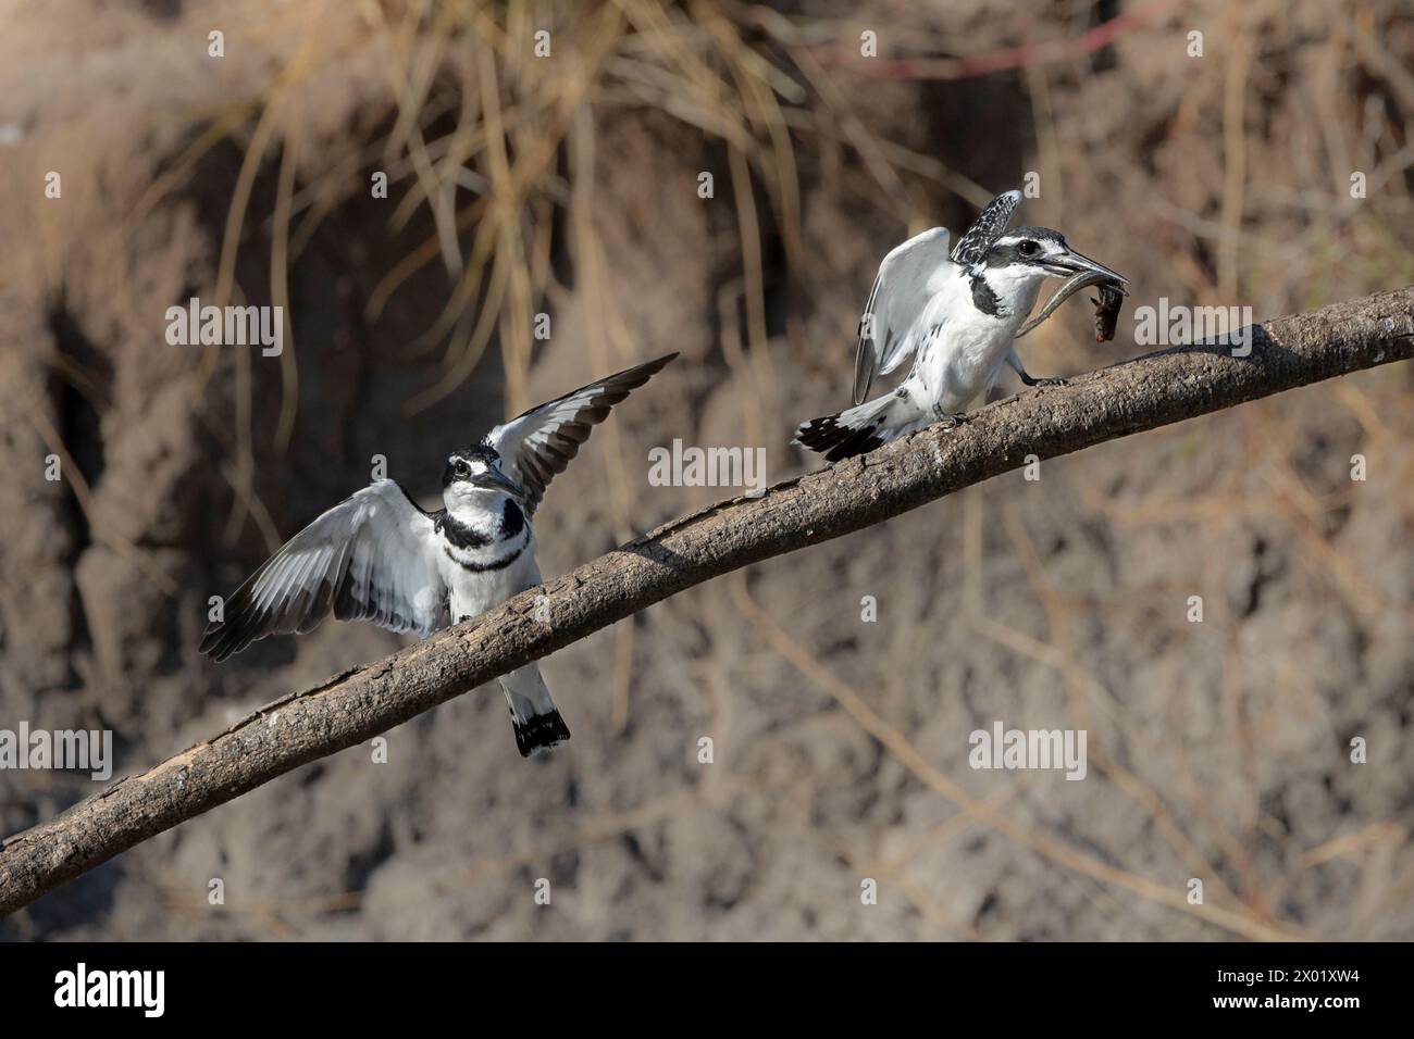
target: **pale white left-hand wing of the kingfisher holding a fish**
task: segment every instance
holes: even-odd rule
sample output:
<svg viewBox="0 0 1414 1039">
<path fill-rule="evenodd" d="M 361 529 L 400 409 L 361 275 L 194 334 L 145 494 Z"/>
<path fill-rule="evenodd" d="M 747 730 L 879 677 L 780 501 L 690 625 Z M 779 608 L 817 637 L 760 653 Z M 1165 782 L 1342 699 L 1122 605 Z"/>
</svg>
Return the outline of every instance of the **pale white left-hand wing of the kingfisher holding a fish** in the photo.
<svg viewBox="0 0 1414 1039">
<path fill-rule="evenodd" d="M 875 375 L 888 375 L 918 348 L 912 331 L 928 303 L 928 283 L 949 266 L 947 228 L 915 235 L 884 257 L 860 319 L 860 345 L 854 355 L 855 404 L 864 403 Z"/>
</svg>

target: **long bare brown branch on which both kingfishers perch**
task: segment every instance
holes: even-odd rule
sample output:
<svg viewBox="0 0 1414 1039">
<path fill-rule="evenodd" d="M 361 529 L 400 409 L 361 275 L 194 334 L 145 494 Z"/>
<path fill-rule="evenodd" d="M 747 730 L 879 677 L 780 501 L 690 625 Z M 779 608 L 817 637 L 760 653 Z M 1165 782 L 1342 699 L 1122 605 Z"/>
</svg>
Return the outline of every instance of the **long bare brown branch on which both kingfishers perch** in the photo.
<svg viewBox="0 0 1414 1039">
<path fill-rule="evenodd" d="M 1414 287 L 1253 327 L 1227 346 L 1151 353 L 998 401 L 863 458 L 674 520 L 543 588 L 127 776 L 0 844 L 0 915 L 134 844 L 362 744 L 529 660 L 751 563 L 880 523 L 1038 458 L 1414 356 Z"/>
</svg>

